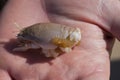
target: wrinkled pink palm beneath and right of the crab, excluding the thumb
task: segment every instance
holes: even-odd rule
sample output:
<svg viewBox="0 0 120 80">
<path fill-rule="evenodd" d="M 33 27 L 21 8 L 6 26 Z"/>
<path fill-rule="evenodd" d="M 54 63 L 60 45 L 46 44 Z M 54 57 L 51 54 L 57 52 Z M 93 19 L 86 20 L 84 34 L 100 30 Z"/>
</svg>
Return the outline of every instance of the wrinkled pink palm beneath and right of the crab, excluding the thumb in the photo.
<svg viewBox="0 0 120 80">
<path fill-rule="evenodd" d="M 97 25 L 89 23 L 89 21 L 79 21 L 76 17 L 82 16 L 74 12 L 71 13 L 69 7 L 64 7 L 67 0 L 66 2 L 57 0 L 59 3 L 54 1 L 53 5 L 57 4 L 58 6 L 51 10 L 49 4 L 53 1 L 47 3 L 48 13 L 45 14 L 49 16 L 52 22 L 79 27 L 82 31 L 80 46 L 76 47 L 71 53 L 63 54 L 56 59 L 45 59 L 39 55 L 39 52 L 10 54 L 9 46 L 12 47 L 13 45 L 6 48 L 3 46 L 0 48 L 2 52 L 0 58 L 3 59 L 0 62 L 0 75 L 7 78 L 6 80 L 10 78 L 9 74 L 15 80 L 108 80 L 109 54 L 106 48 L 109 46 L 109 50 L 111 46 L 106 43 L 106 33 L 103 33 Z M 83 2 L 85 1 L 83 0 Z M 78 7 L 78 5 L 76 6 Z M 58 13 L 56 13 L 57 9 Z M 82 13 L 86 12 L 83 11 Z M 87 15 L 84 16 L 87 19 Z M 110 44 L 111 41 L 112 38 L 109 40 Z M 10 44 L 13 43 L 10 42 Z M 4 78 L 3 80 L 5 80 Z"/>
</svg>

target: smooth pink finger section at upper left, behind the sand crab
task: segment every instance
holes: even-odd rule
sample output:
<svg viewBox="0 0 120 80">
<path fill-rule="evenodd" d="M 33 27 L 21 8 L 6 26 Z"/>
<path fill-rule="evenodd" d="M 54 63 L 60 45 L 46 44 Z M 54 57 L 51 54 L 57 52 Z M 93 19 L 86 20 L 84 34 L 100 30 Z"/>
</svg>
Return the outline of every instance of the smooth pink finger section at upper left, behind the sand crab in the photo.
<svg viewBox="0 0 120 80">
<path fill-rule="evenodd" d="M 6 37 L 11 37 L 17 30 L 14 23 L 26 27 L 48 21 L 41 0 L 10 0 L 2 12 L 0 33 L 6 33 Z"/>
</svg>

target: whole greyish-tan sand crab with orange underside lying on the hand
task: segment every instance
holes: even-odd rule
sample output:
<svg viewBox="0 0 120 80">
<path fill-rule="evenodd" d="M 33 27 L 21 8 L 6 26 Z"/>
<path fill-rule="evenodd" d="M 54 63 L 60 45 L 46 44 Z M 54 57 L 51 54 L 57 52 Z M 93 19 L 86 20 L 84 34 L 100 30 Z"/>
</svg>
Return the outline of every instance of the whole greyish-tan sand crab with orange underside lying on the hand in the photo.
<svg viewBox="0 0 120 80">
<path fill-rule="evenodd" d="M 21 46 L 14 51 L 41 48 L 46 57 L 57 57 L 60 53 L 68 53 L 81 40 L 79 28 L 56 23 L 37 23 L 24 28 L 17 35 Z"/>
</svg>

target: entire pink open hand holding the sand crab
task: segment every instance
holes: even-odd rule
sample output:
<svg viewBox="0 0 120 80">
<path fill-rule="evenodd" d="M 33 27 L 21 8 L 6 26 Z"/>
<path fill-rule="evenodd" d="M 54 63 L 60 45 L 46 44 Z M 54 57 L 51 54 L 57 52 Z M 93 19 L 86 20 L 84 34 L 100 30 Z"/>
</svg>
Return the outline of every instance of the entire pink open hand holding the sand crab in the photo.
<svg viewBox="0 0 120 80">
<path fill-rule="evenodd" d="M 109 80 L 109 55 L 120 39 L 118 0 L 9 0 L 0 15 L 0 80 Z M 116 11 L 115 11 L 116 10 Z M 14 53 L 18 29 L 38 22 L 79 27 L 71 53 L 46 59 L 38 51 Z"/>
</svg>

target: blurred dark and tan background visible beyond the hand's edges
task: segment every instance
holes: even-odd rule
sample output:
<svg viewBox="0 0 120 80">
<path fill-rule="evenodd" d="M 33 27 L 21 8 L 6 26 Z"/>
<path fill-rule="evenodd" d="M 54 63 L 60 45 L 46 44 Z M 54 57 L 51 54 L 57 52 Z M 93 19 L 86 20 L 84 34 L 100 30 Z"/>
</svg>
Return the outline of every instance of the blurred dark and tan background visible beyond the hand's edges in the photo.
<svg viewBox="0 0 120 80">
<path fill-rule="evenodd" d="M 0 11 L 8 0 L 0 0 Z M 120 42 L 116 40 L 111 56 L 111 79 L 120 80 Z"/>
</svg>

